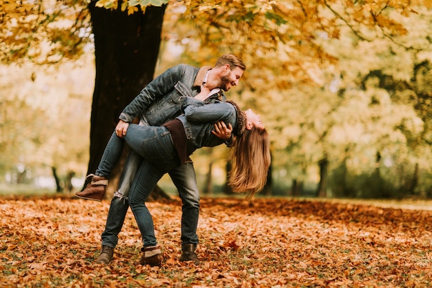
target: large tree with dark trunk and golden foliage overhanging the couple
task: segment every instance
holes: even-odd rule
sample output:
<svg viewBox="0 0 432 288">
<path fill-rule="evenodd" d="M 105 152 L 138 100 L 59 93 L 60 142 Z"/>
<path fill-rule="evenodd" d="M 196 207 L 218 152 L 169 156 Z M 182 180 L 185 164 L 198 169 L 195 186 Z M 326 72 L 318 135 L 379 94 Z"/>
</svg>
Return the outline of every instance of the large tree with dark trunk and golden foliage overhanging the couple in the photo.
<svg viewBox="0 0 432 288">
<path fill-rule="evenodd" d="M 1 4 L 3 21 L 0 35 L 4 41 L 0 44 L 0 52 L 2 60 L 8 63 L 22 57 L 38 63 L 76 57 L 85 47 L 84 42 L 93 39 L 90 35 L 93 32 L 97 75 L 88 169 L 93 171 L 117 122 L 119 111 L 153 77 L 159 48 L 159 35 L 155 35 L 160 32 L 164 7 L 155 10 L 148 7 L 144 15 L 141 10 L 150 4 L 160 6 L 162 2 L 129 1 L 119 6 L 117 1 L 91 1 L 88 10 L 83 9 L 81 1 L 56 2 L 51 3 L 52 6 L 46 5 L 50 5 L 48 1 L 32 1 L 17 6 L 1 0 Z M 340 75 L 337 71 L 340 55 L 328 50 L 328 44 L 340 39 L 344 28 L 351 32 L 351 39 L 357 46 L 376 39 L 391 43 L 408 32 L 403 17 L 411 15 L 417 4 L 427 5 L 423 1 L 171 1 L 165 18 L 165 37 L 181 44 L 184 59 L 190 64 L 208 63 L 208 59 L 214 59 L 214 55 L 223 52 L 233 52 L 242 57 L 248 64 L 248 71 L 235 100 L 242 106 L 258 107 L 266 115 L 264 121 L 278 135 L 277 141 L 273 141 L 276 149 L 286 152 L 297 146 L 306 152 L 300 160 L 304 162 L 301 171 L 306 171 L 311 163 L 317 165 L 324 159 L 323 155 L 328 155 L 324 145 L 316 160 L 315 153 L 308 153 L 313 143 L 322 142 L 315 136 L 324 132 L 322 129 L 326 126 L 319 128 L 322 131 L 311 133 L 311 142 L 303 142 L 302 147 L 300 142 L 292 141 L 289 133 L 297 124 L 300 125 L 297 125 L 297 131 L 304 131 L 311 128 L 304 124 L 313 121 L 306 119 L 304 114 L 300 114 L 300 119 L 303 119 L 300 122 L 291 118 L 293 125 L 280 121 L 286 118 L 287 111 L 295 113 L 291 109 L 292 102 L 302 102 L 301 97 L 304 97 L 304 94 L 291 95 L 288 89 L 302 84 L 327 89 L 327 85 Z M 89 30 L 89 11 L 92 31 Z M 128 16 L 131 12 L 132 15 Z M 148 28 L 153 29 L 149 32 L 154 32 L 155 40 L 143 44 L 144 38 L 140 37 L 144 37 L 143 31 Z M 146 68 L 139 64 L 144 63 L 139 62 L 144 56 L 134 55 L 135 52 L 144 52 L 146 48 L 143 45 L 154 53 L 149 52 L 153 56 L 149 54 L 151 59 L 146 61 Z M 134 70 L 135 67 L 142 69 Z M 327 100 L 337 101 L 331 99 L 334 97 L 331 93 L 327 95 L 320 99 L 320 104 Z M 271 105 L 273 103 L 277 105 Z M 315 107 L 325 115 L 325 106 Z M 308 115 L 317 117 L 320 113 Z M 277 161 L 286 161 L 286 155 L 278 155 L 281 153 L 277 153 Z"/>
</svg>

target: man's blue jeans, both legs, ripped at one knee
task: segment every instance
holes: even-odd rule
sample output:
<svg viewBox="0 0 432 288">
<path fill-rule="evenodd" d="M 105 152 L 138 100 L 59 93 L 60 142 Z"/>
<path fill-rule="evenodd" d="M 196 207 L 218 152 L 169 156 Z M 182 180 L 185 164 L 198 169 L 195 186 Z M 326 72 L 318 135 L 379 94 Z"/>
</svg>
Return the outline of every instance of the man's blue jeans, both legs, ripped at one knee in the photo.
<svg viewBox="0 0 432 288">
<path fill-rule="evenodd" d="M 138 169 L 140 169 L 140 173 L 143 173 L 145 165 L 141 169 L 141 164 L 144 162 L 146 162 L 146 160 L 143 160 L 140 155 L 134 151 L 130 151 L 124 166 L 124 171 L 121 175 L 119 191 L 115 193 L 115 197 L 111 200 L 105 231 L 102 233 L 102 245 L 112 248 L 117 245 L 119 239 L 118 234 L 121 231 L 121 227 L 123 227 L 124 218 L 126 217 L 129 207 L 126 198 L 128 198 L 128 192 L 132 186 L 132 182 L 134 180 L 139 181 L 137 186 L 150 184 L 146 184 L 147 175 L 136 174 Z M 198 244 L 197 224 L 199 217 L 199 191 L 193 163 L 186 162 L 170 170 L 168 173 L 177 187 L 179 197 L 182 201 L 181 242 Z M 146 218 L 148 218 L 148 215 L 143 216 L 144 221 Z M 146 239 L 150 239 L 150 242 L 154 242 L 153 237 L 154 230 L 148 236 L 143 235 L 145 246 L 150 246 L 150 244 L 146 242 Z"/>
</svg>

